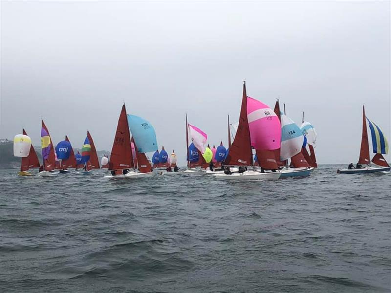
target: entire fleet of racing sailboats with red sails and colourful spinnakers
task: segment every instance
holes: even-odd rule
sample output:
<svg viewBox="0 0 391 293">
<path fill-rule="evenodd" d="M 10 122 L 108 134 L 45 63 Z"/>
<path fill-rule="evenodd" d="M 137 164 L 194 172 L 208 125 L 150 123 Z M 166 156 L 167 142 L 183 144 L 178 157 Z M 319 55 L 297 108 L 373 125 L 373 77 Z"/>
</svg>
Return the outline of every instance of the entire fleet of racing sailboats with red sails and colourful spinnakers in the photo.
<svg viewBox="0 0 391 293">
<path fill-rule="evenodd" d="M 187 168 L 182 169 L 177 166 L 178 159 L 174 150 L 170 155 L 164 146 L 158 150 L 152 124 L 144 118 L 128 114 L 125 103 L 118 118 L 110 156 L 104 155 L 100 164 L 89 131 L 80 153 L 72 148 L 68 136 L 54 145 L 42 120 L 43 164 L 40 165 L 31 138 L 23 129 L 22 134 L 14 138 L 14 156 L 21 157 L 18 175 L 33 176 L 34 173 L 30 170 L 34 168 L 40 169 L 39 176 L 53 176 L 58 173 L 90 174 L 93 169 L 102 168 L 110 172 L 105 178 L 147 178 L 163 173 L 197 174 L 206 170 L 206 174 L 211 174 L 212 178 L 218 180 L 277 180 L 283 177 L 306 177 L 318 167 L 315 156 L 317 133 L 310 122 L 304 121 L 304 112 L 299 127 L 286 115 L 285 104 L 282 112 L 277 100 L 272 110 L 265 103 L 247 96 L 244 82 L 239 122 L 230 123 L 230 116 L 227 118 L 228 146 L 223 146 L 221 141 L 220 145 L 213 145 L 211 148 L 207 134 L 189 124 L 186 114 Z M 372 160 L 369 157 L 367 124 L 375 154 Z M 234 129 L 232 132 L 231 127 Z M 147 153 L 153 153 L 151 162 Z M 383 157 L 383 154 L 387 153 L 386 137 L 380 127 L 366 117 L 363 106 L 358 164 L 354 167 L 351 163 L 348 169 L 338 169 L 337 172 L 365 174 L 390 171 L 390 166 Z"/>
</svg>

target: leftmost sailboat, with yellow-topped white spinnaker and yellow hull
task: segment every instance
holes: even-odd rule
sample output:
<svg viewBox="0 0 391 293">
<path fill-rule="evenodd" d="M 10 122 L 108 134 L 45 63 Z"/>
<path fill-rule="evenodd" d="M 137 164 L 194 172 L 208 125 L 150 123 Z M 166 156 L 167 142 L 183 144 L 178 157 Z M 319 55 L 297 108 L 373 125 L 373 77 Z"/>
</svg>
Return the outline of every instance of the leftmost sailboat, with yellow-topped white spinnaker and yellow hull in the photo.
<svg viewBox="0 0 391 293">
<path fill-rule="evenodd" d="M 20 176 L 32 176 L 33 174 L 28 172 L 28 170 L 40 167 L 37 153 L 31 144 L 31 138 L 24 129 L 23 134 L 18 134 L 14 137 L 14 156 L 22 158 L 21 170 L 18 173 Z"/>
</svg>

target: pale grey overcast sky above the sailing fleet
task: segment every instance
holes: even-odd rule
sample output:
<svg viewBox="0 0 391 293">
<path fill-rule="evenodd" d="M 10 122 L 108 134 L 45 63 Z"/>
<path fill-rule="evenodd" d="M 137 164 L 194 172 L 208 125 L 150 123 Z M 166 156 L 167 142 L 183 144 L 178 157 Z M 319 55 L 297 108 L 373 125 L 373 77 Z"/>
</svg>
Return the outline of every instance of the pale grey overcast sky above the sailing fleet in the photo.
<svg viewBox="0 0 391 293">
<path fill-rule="evenodd" d="M 0 3 L 0 138 L 25 127 L 39 146 L 43 117 L 55 143 L 88 129 L 110 151 L 125 101 L 184 165 L 185 113 L 227 145 L 246 79 L 299 125 L 304 110 L 318 163 L 357 162 L 362 104 L 391 145 L 390 1 Z"/>
</svg>

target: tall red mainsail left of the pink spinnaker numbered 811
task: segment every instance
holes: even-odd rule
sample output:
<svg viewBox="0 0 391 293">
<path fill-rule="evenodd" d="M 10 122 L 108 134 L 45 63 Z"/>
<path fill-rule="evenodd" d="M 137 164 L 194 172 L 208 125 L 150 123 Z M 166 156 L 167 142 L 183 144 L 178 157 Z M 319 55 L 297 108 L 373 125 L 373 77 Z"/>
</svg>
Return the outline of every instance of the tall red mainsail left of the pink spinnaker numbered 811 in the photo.
<svg viewBox="0 0 391 293">
<path fill-rule="evenodd" d="M 253 154 L 251 151 L 250 129 L 247 120 L 247 93 L 246 83 L 243 84 L 243 98 L 241 102 L 238 130 L 234 142 L 229 146 L 225 165 L 248 166 L 252 165 Z"/>
</svg>

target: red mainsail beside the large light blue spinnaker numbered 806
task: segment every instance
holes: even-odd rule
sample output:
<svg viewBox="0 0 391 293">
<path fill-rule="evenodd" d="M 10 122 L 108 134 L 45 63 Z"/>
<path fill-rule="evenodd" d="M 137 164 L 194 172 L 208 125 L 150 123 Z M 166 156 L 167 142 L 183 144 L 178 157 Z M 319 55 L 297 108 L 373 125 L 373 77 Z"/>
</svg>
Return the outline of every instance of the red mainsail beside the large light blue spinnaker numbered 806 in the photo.
<svg viewBox="0 0 391 293">
<path fill-rule="evenodd" d="M 115 132 L 114 143 L 111 149 L 109 170 L 122 170 L 132 167 L 134 167 L 134 164 L 131 153 L 128 119 L 124 104 L 122 105 L 117 131 Z"/>
</svg>

